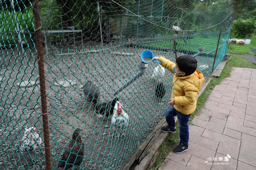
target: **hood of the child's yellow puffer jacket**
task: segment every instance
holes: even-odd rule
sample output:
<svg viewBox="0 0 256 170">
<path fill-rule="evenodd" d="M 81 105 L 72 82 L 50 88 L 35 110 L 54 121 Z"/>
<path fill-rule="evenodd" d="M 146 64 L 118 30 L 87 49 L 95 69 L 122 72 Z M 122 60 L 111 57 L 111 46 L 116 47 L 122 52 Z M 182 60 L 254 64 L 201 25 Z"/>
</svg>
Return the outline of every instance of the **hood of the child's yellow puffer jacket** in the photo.
<svg viewBox="0 0 256 170">
<path fill-rule="evenodd" d="M 189 83 L 194 84 L 198 89 L 200 89 L 204 83 L 204 75 L 198 69 L 192 73 L 191 75 L 187 75 L 184 77 L 179 77 L 181 80 L 186 80 Z"/>
</svg>

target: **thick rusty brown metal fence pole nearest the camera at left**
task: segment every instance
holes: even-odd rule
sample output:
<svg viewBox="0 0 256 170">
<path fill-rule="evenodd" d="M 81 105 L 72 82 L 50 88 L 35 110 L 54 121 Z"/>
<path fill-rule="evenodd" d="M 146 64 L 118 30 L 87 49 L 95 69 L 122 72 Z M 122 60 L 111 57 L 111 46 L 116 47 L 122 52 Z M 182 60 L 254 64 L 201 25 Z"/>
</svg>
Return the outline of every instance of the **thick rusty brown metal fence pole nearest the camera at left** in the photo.
<svg viewBox="0 0 256 170">
<path fill-rule="evenodd" d="M 44 149 L 46 170 L 51 170 L 50 159 L 50 140 L 49 140 L 49 127 L 48 127 L 48 111 L 46 101 L 46 89 L 45 89 L 45 77 L 44 77 L 44 54 L 42 47 L 42 32 L 41 32 L 41 19 L 38 0 L 33 0 L 33 14 L 35 22 L 35 35 L 36 35 L 36 50 L 38 58 L 38 71 L 39 71 L 39 83 L 41 93 L 41 105 L 42 105 L 42 121 L 44 130 Z"/>
</svg>

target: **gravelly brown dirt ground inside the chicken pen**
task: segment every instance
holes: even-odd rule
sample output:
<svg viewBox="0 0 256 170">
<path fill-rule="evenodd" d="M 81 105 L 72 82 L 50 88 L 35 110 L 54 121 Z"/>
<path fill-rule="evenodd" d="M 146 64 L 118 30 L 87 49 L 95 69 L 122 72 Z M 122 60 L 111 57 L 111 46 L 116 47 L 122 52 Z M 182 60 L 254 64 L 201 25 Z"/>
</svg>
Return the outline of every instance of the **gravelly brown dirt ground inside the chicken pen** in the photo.
<svg viewBox="0 0 256 170">
<path fill-rule="evenodd" d="M 60 54 L 60 51 L 55 49 L 44 57 L 53 169 L 58 169 L 62 150 L 72 138 L 75 128 L 81 128 L 85 147 L 80 169 L 117 169 L 164 117 L 168 107 L 167 101 L 171 96 L 173 75 L 165 71 L 165 78 L 160 81 L 165 85 L 166 93 L 163 99 L 157 99 L 155 88 L 159 82 L 153 81 L 151 77 L 157 66 L 155 62 L 149 64 L 144 75 L 117 95 L 129 115 L 127 129 L 120 129 L 125 136 L 118 137 L 117 128 L 114 129 L 111 125 L 112 116 L 109 119 L 100 117 L 85 102 L 83 85 L 88 80 L 99 87 L 100 102 L 114 99 L 114 91 L 139 72 L 139 55 L 143 50 L 109 45 L 101 51 L 85 50 L 91 52 L 63 50 Z M 1 54 L 0 73 L 3 80 L 0 81 L 0 166 L 7 169 L 44 169 L 44 144 L 41 145 L 42 149 L 38 150 L 35 162 L 26 162 L 26 156 L 23 158 L 19 150 L 25 126 L 37 127 L 40 137 L 44 136 L 37 55 L 35 51 L 27 49 L 25 61 L 21 57 L 23 55 L 18 52 L 8 49 L 2 50 Z M 119 55 L 118 52 L 128 55 Z M 153 50 L 153 53 L 175 61 L 173 52 Z M 208 61 L 210 63 L 212 60 L 200 56 L 197 59 L 199 64 Z M 38 84 L 26 88 L 16 85 L 25 80 L 37 81 Z M 75 84 L 67 88 L 54 84 L 67 80 Z"/>
</svg>

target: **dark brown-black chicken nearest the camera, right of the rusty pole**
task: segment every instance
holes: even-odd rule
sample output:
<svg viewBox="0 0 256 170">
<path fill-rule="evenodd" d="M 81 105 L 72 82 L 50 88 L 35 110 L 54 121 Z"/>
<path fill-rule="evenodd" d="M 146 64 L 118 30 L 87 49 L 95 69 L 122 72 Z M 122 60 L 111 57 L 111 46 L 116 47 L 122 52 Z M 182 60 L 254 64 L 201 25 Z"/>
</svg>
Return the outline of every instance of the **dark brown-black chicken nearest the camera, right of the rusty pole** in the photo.
<svg viewBox="0 0 256 170">
<path fill-rule="evenodd" d="M 58 163 L 58 168 L 73 169 L 73 166 L 80 166 L 84 156 L 84 146 L 80 136 L 80 129 L 73 133 L 72 140 L 66 145 L 62 158 Z"/>
</svg>

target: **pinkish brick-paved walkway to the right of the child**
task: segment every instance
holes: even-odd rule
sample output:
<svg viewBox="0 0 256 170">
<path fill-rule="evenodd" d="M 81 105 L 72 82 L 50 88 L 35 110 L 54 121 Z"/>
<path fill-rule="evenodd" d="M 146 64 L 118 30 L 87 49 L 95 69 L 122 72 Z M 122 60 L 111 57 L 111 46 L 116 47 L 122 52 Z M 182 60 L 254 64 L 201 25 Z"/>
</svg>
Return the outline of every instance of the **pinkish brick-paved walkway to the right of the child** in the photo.
<svg viewBox="0 0 256 170">
<path fill-rule="evenodd" d="M 236 67 L 216 85 L 189 124 L 188 150 L 159 168 L 175 169 L 256 170 L 256 69 Z"/>
</svg>

